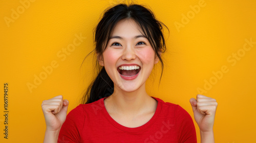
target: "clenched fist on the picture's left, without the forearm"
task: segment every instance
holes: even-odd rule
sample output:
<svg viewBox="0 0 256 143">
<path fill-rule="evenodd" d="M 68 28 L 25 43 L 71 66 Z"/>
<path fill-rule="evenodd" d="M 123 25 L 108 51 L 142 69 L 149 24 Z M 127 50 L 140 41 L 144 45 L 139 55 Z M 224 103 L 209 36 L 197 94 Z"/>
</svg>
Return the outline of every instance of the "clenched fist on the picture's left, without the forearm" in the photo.
<svg viewBox="0 0 256 143">
<path fill-rule="evenodd" d="M 66 120 L 68 106 L 69 101 L 63 100 L 62 96 L 42 101 L 41 107 L 45 116 L 47 130 L 60 130 Z"/>
</svg>

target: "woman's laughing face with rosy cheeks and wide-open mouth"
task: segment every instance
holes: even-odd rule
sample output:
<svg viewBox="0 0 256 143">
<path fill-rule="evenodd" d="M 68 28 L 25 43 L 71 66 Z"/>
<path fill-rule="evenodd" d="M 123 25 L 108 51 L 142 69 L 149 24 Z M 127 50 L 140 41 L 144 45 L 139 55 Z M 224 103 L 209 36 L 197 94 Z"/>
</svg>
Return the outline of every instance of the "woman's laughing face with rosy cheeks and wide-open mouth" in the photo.
<svg viewBox="0 0 256 143">
<path fill-rule="evenodd" d="M 99 64 L 105 67 L 114 88 L 135 91 L 145 84 L 158 62 L 150 42 L 132 19 L 117 23 Z"/>
</svg>

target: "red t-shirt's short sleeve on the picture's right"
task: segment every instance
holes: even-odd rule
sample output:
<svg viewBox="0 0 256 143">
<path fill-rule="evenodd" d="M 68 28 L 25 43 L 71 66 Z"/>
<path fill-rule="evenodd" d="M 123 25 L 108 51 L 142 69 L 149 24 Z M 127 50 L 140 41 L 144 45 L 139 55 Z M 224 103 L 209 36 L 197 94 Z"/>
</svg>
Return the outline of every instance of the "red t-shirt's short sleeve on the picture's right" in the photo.
<svg viewBox="0 0 256 143">
<path fill-rule="evenodd" d="M 197 135 L 194 122 L 186 110 L 178 105 L 176 112 L 180 143 L 196 143 Z"/>
</svg>

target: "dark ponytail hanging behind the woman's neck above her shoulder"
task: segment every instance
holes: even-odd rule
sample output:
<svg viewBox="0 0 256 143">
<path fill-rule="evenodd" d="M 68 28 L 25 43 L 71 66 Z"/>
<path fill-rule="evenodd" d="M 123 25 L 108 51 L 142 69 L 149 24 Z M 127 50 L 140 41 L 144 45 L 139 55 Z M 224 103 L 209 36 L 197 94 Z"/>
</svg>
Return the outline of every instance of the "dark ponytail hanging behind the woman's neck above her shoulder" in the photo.
<svg viewBox="0 0 256 143">
<path fill-rule="evenodd" d="M 89 104 L 104 97 L 109 97 L 114 92 L 114 83 L 106 73 L 104 67 L 100 70 L 98 76 L 87 88 L 82 98 L 81 104 Z"/>
</svg>

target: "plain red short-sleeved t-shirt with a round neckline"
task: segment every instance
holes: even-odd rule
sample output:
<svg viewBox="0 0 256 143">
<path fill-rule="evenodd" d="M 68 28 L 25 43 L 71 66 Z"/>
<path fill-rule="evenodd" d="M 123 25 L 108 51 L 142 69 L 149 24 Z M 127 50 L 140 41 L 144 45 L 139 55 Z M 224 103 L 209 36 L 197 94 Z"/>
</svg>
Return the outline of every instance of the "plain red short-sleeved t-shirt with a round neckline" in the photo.
<svg viewBox="0 0 256 143">
<path fill-rule="evenodd" d="M 136 128 L 118 124 L 106 111 L 105 98 L 80 104 L 67 115 L 58 142 L 197 142 L 195 126 L 187 111 L 179 105 L 152 98 L 158 101 L 155 114 Z"/>
</svg>

